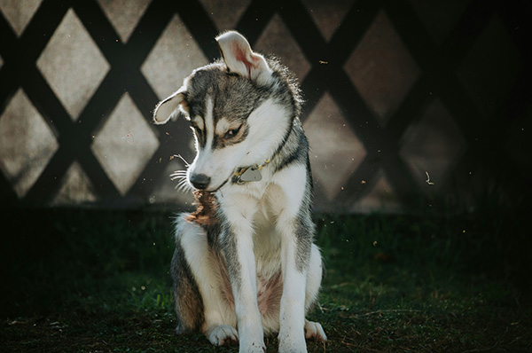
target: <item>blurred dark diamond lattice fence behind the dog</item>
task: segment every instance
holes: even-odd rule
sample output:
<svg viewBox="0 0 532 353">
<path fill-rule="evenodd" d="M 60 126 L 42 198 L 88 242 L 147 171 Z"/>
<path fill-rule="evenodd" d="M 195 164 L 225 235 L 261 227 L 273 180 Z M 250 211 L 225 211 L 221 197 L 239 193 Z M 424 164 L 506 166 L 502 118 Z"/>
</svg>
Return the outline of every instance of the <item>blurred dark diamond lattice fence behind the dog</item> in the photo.
<svg viewBox="0 0 532 353">
<path fill-rule="evenodd" d="M 301 82 L 318 211 L 522 208 L 528 1 L 1 0 L 2 208 L 184 209 L 153 107 L 237 29 Z"/>
</svg>

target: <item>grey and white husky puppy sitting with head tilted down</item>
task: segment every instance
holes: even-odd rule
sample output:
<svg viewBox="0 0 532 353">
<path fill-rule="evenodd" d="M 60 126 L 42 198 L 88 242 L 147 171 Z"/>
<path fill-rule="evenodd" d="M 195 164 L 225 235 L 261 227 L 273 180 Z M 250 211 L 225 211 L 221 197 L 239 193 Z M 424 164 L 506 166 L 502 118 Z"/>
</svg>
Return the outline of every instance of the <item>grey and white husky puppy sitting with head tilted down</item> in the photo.
<svg viewBox="0 0 532 353">
<path fill-rule="evenodd" d="M 299 120 L 301 92 L 278 59 L 252 51 L 238 32 L 217 36 L 222 58 L 199 67 L 155 108 L 153 121 L 181 112 L 197 154 L 176 172 L 198 209 L 176 218 L 171 264 L 177 333 L 214 345 L 306 352 L 326 341 L 307 320 L 323 261 L 313 243 L 309 144 Z"/>
</svg>

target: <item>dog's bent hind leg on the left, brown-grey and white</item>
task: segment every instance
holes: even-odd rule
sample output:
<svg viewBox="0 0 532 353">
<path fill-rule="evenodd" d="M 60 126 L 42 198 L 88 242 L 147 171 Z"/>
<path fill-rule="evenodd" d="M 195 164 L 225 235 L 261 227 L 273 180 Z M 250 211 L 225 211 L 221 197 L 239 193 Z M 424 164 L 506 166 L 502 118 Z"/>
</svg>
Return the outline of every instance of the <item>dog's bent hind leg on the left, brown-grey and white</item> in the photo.
<svg viewBox="0 0 532 353">
<path fill-rule="evenodd" d="M 205 333 L 207 339 L 218 346 L 238 341 L 236 316 L 227 290 L 223 288 L 230 286 L 223 283 L 226 277 L 223 276 L 226 271 L 224 264 L 209 246 L 207 232 L 199 225 L 184 220 L 184 216 L 176 224 L 173 263 L 176 313 L 180 326 Z M 183 274 L 186 279 L 177 278 Z M 195 298 L 191 297 L 193 293 Z"/>
</svg>

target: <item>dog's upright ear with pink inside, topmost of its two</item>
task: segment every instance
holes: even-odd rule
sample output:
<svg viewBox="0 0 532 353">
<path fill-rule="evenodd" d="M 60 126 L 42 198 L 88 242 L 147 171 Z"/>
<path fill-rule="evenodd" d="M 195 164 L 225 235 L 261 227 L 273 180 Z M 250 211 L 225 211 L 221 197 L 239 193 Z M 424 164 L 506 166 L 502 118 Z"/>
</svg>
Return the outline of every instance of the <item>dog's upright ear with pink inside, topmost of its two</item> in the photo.
<svg viewBox="0 0 532 353">
<path fill-rule="evenodd" d="M 270 78 L 272 71 L 266 59 L 252 51 L 246 38 L 239 32 L 229 31 L 218 35 L 216 42 L 229 71 L 258 82 L 266 82 Z"/>
</svg>

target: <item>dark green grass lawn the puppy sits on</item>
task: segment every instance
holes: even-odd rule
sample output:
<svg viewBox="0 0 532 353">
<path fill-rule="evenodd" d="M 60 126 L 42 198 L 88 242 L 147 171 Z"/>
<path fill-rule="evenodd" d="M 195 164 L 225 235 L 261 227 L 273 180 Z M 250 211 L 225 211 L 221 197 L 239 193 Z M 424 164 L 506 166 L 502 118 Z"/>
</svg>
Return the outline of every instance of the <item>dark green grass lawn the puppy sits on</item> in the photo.
<svg viewBox="0 0 532 353">
<path fill-rule="evenodd" d="M 172 215 L 3 212 L 0 351 L 237 352 L 176 336 Z M 524 218 L 316 216 L 326 277 L 309 352 L 526 352 Z M 268 337 L 268 352 L 277 340 Z"/>
</svg>

